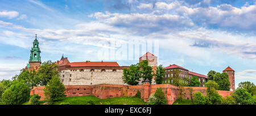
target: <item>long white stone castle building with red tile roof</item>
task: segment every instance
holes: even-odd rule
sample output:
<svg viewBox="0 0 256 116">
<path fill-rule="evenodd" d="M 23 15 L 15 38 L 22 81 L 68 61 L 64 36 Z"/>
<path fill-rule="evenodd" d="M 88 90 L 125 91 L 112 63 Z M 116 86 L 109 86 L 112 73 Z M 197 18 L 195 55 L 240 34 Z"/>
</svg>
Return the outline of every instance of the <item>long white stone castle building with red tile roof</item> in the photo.
<svg viewBox="0 0 256 116">
<path fill-rule="evenodd" d="M 62 57 L 56 62 L 59 65 L 60 81 L 64 85 L 97 85 L 123 83 L 123 68 L 117 62 L 69 62 L 68 58 Z"/>
</svg>

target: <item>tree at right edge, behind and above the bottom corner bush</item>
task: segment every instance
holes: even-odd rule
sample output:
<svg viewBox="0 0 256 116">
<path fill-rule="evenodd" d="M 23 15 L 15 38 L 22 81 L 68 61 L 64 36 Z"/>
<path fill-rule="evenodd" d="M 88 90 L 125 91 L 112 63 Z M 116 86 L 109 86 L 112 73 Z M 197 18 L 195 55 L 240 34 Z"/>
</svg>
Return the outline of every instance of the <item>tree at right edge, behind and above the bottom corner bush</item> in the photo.
<svg viewBox="0 0 256 116">
<path fill-rule="evenodd" d="M 250 81 L 244 81 L 238 84 L 238 88 L 245 89 L 247 92 L 253 96 L 256 94 L 256 86 L 254 83 L 251 83 Z"/>
</svg>

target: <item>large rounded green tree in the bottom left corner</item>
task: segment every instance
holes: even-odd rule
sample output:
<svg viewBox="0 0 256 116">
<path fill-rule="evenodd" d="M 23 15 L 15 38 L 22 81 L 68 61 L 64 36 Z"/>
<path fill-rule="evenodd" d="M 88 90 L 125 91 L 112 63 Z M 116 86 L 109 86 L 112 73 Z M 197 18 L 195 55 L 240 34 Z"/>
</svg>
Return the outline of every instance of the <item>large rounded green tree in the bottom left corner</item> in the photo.
<svg viewBox="0 0 256 116">
<path fill-rule="evenodd" d="M 3 104 L 23 104 L 30 99 L 30 89 L 22 82 L 15 81 L 10 88 L 2 94 Z"/>
</svg>

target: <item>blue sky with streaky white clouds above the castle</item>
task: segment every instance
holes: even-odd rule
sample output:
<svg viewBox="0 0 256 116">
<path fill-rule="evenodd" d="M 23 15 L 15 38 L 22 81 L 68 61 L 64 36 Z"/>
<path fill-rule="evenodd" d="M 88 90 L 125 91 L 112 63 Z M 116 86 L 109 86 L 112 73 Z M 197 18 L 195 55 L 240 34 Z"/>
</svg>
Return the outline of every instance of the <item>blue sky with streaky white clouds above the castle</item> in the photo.
<svg viewBox="0 0 256 116">
<path fill-rule="evenodd" d="M 256 82 L 255 1 L 0 0 L 0 80 L 26 66 L 35 33 L 42 61 L 101 61 L 101 41 L 156 40 L 159 65 L 204 75 L 230 66 L 236 85 Z"/>
</svg>

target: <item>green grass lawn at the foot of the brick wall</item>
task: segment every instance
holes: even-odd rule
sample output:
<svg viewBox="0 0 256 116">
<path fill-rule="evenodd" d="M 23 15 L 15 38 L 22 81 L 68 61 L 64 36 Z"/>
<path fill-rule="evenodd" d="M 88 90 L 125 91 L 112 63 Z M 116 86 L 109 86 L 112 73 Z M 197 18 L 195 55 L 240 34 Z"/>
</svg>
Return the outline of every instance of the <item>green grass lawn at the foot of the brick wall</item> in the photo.
<svg viewBox="0 0 256 116">
<path fill-rule="evenodd" d="M 94 96 L 77 96 L 77 97 L 64 97 L 54 101 L 54 105 L 59 105 L 63 102 L 71 105 L 86 105 L 89 101 L 92 101 L 96 105 L 144 105 L 146 102 L 142 98 L 135 97 L 115 97 L 100 99 Z M 44 104 L 46 101 L 40 101 L 40 104 Z M 24 103 L 27 104 L 28 102 Z"/>
</svg>

